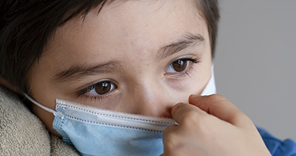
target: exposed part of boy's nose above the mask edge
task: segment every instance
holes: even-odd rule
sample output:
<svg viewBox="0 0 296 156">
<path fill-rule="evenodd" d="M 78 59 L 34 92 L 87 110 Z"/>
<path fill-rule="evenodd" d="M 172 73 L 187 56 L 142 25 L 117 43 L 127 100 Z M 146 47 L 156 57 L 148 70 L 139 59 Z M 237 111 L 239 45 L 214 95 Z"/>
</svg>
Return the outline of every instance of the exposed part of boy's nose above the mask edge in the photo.
<svg viewBox="0 0 296 156">
<path fill-rule="evenodd" d="M 171 95 L 168 87 L 155 79 L 142 79 L 135 89 L 137 113 L 171 117 Z"/>
</svg>

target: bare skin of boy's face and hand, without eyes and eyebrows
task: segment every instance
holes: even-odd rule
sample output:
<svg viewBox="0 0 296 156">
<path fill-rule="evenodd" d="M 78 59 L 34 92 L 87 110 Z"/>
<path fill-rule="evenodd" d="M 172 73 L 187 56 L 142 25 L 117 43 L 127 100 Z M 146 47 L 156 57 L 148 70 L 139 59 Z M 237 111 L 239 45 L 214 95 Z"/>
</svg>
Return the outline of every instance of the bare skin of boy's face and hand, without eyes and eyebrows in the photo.
<svg viewBox="0 0 296 156">
<path fill-rule="evenodd" d="M 84 20 L 74 18 L 57 28 L 30 70 L 33 99 L 53 110 L 55 99 L 64 99 L 113 111 L 172 117 L 178 125 L 166 128 L 163 155 L 270 155 L 251 120 L 223 96 L 190 96 L 188 101 L 190 94 L 201 94 L 205 88 L 212 64 L 207 27 L 195 6 L 196 1 L 188 0 L 115 1 L 99 14 L 94 9 Z M 203 40 L 158 56 L 161 48 L 188 33 Z M 198 57 L 199 62 L 188 61 L 183 72 L 173 71 L 171 63 L 184 57 Z M 76 65 L 107 62 L 120 65 L 107 73 L 57 79 Z M 79 96 L 101 79 L 116 87 L 104 95 Z M 33 106 L 33 112 L 51 133 L 59 135 L 52 128 L 52 113 L 38 106 Z"/>
</svg>

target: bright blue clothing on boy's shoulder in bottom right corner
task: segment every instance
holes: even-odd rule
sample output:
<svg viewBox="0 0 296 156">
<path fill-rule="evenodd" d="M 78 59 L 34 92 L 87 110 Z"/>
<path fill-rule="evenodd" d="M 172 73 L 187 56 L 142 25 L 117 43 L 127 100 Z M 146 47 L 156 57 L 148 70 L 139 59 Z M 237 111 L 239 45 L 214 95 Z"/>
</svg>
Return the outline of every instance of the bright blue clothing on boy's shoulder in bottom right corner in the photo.
<svg viewBox="0 0 296 156">
<path fill-rule="evenodd" d="M 273 156 L 296 156 L 296 143 L 293 140 L 279 140 L 266 130 L 257 128 L 266 147 Z"/>
</svg>

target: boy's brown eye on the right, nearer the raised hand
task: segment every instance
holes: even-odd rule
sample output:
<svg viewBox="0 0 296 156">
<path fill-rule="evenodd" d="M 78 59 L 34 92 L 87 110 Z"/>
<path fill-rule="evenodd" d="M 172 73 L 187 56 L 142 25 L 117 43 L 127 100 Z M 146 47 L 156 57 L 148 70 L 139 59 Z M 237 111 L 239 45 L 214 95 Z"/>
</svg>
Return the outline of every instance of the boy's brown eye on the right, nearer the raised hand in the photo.
<svg viewBox="0 0 296 156">
<path fill-rule="evenodd" d="M 183 58 L 180 60 L 176 60 L 174 62 L 171 62 L 171 64 L 166 67 L 166 73 L 178 73 L 183 72 L 185 69 L 187 69 L 190 66 L 190 63 L 198 63 L 198 58 Z"/>
</svg>

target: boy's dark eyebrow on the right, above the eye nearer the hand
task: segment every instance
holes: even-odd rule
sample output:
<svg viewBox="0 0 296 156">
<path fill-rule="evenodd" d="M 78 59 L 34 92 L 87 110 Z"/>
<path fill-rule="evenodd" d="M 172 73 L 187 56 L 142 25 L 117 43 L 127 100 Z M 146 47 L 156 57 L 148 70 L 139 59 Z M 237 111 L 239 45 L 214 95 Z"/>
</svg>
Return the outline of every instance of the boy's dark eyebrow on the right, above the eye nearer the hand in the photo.
<svg viewBox="0 0 296 156">
<path fill-rule="evenodd" d="M 199 35 L 199 34 L 195 35 L 193 33 L 187 33 L 186 35 L 183 35 L 183 37 L 179 39 L 177 42 L 171 43 L 169 45 L 166 45 L 160 48 L 157 51 L 156 60 L 162 60 L 165 57 L 169 57 L 170 55 L 180 52 L 181 50 L 185 50 L 195 45 L 196 46 L 203 45 L 204 43 L 205 43 L 205 38 L 203 38 L 203 35 Z"/>
</svg>

